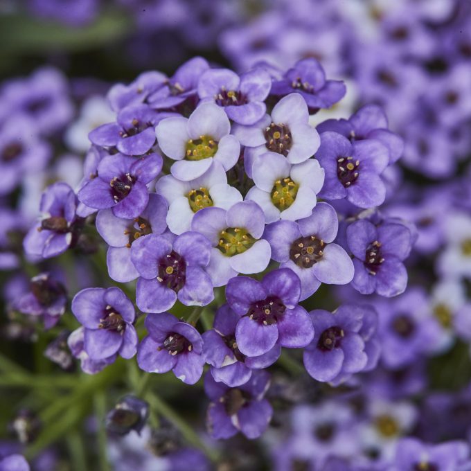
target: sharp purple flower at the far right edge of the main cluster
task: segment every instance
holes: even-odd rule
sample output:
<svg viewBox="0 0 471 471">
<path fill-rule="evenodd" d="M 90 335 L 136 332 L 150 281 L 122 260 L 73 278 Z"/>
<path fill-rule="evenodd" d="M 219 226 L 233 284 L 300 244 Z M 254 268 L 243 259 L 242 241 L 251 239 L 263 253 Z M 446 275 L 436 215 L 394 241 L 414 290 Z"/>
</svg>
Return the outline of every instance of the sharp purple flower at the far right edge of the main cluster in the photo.
<svg viewBox="0 0 471 471">
<path fill-rule="evenodd" d="M 346 232 L 348 249 L 355 258 L 352 286 L 362 294 L 397 296 L 407 286 L 402 260 L 409 256 L 411 231 L 399 222 L 375 226 L 367 220 L 350 224 Z"/>
</svg>

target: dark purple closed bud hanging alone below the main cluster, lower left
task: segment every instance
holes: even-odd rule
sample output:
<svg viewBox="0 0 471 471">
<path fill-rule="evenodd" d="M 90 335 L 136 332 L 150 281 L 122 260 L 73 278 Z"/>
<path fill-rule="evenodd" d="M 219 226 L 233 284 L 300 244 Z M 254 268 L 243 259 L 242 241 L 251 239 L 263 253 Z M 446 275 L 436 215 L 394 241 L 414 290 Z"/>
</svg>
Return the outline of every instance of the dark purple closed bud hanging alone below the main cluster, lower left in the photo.
<svg viewBox="0 0 471 471">
<path fill-rule="evenodd" d="M 106 416 L 106 428 L 108 432 L 125 435 L 135 430 L 141 433 L 149 416 L 148 402 L 127 394 L 118 402 Z"/>
</svg>

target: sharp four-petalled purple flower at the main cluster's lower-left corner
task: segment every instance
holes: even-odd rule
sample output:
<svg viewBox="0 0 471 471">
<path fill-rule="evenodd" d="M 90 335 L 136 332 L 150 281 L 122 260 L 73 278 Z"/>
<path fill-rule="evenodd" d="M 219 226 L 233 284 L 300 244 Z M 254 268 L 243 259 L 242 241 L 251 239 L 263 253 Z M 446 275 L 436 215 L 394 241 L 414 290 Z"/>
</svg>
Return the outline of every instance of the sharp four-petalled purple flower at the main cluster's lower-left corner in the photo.
<svg viewBox="0 0 471 471">
<path fill-rule="evenodd" d="M 116 287 L 87 288 L 75 294 L 72 312 L 85 327 L 84 350 L 94 360 L 118 353 L 123 358 L 136 354 L 137 334 L 132 325 L 134 305 Z"/>
</svg>

